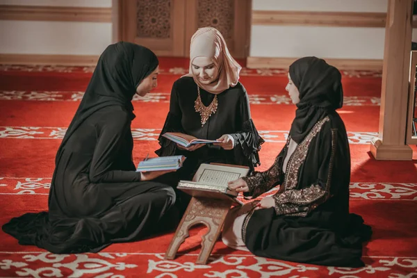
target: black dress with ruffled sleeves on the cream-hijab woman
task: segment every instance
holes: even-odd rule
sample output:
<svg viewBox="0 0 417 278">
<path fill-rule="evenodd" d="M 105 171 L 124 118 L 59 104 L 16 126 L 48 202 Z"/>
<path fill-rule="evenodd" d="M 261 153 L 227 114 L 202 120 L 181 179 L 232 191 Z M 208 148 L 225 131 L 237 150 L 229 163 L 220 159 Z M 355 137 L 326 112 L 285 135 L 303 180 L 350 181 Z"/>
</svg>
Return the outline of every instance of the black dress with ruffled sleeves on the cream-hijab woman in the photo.
<svg viewBox="0 0 417 278">
<path fill-rule="evenodd" d="M 215 95 L 200 88 L 200 95 L 205 106 L 211 104 Z M 250 116 L 249 98 L 241 83 L 224 90 L 218 97 L 217 111 L 202 126 L 199 113 L 195 111 L 197 84 L 192 77 L 182 77 L 172 86 L 170 111 L 165 120 L 161 134 L 181 132 L 199 139 L 215 140 L 224 134 L 234 138 L 234 149 L 224 150 L 218 146 L 205 145 L 194 152 L 177 148 L 177 145 L 159 136 L 161 149 L 158 156 L 183 154 L 186 161 L 177 171 L 181 179 L 192 179 L 202 163 L 229 163 L 246 165 L 251 170 L 260 165 L 259 150 L 264 142 L 259 136 Z"/>
</svg>

